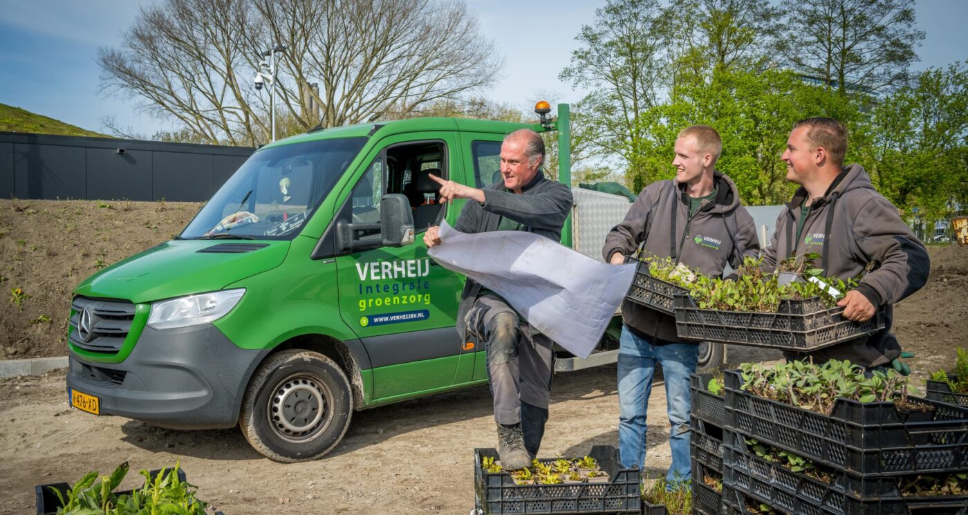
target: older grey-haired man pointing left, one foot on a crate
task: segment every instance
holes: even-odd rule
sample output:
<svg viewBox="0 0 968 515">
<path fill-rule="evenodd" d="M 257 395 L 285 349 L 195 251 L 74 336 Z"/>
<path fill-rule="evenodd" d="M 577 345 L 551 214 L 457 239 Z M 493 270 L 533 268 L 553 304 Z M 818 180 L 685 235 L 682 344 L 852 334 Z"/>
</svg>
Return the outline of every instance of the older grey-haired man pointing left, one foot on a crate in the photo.
<svg viewBox="0 0 968 515">
<path fill-rule="evenodd" d="M 571 190 L 541 172 L 544 151 L 541 136 L 521 129 L 504 137 L 500 145 L 503 181 L 477 189 L 431 175 L 440 184 L 441 201 L 469 200 L 454 228 L 467 233 L 527 230 L 560 241 L 571 210 Z M 427 248 L 441 244 L 439 227 L 427 229 L 424 243 Z M 528 467 L 548 420 L 552 341 L 498 293 L 471 280 L 461 295 L 457 331 L 463 342 L 483 343 L 487 353 L 501 466 Z"/>
</svg>

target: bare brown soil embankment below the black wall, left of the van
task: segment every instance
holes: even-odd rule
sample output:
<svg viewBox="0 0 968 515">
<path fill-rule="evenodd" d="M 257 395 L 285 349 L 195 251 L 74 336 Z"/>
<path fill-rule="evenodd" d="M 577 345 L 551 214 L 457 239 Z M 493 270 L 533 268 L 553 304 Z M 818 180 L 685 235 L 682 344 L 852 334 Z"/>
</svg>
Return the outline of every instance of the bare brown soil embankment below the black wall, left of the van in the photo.
<svg viewBox="0 0 968 515">
<path fill-rule="evenodd" d="M 163 243 L 200 203 L 0 200 L 0 359 L 67 354 L 71 291 L 89 275 Z M 17 306 L 12 289 L 24 297 Z"/>
</svg>

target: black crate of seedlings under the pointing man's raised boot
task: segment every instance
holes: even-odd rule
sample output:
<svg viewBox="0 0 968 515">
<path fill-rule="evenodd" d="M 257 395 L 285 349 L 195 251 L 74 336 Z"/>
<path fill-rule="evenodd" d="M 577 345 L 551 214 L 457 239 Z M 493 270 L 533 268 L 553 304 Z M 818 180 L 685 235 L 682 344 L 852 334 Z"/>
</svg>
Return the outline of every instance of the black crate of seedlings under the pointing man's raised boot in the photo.
<svg viewBox="0 0 968 515">
<path fill-rule="evenodd" d="M 611 445 L 574 459 L 536 459 L 504 470 L 495 449 L 474 450 L 474 490 L 486 514 L 640 513 L 639 469 L 622 469 Z"/>
</svg>

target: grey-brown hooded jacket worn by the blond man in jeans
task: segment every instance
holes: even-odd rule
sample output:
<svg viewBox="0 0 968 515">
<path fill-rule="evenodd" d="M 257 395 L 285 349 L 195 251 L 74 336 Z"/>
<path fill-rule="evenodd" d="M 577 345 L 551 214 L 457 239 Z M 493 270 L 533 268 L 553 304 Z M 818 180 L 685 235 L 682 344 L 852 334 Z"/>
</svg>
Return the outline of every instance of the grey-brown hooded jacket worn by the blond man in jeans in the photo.
<svg viewBox="0 0 968 515">
<path fill-rule="evenodd" d="M 737 267 L 743 257 L 758 257 L 760 241 L 736 184 L 718 170 L 712 179 L 719 189 L 713 201 L 703 200 L 689 217 L 689 196 L 678 181 L 653 182 L 642 190 L 625 220 L 605 237 L 602 256 L 632 255 L 640 245 L 643 257 L 673 258 L 707 276 L 720 276 L 726 263 Z M 626 300 L 621 318 L 634 333 L 653 344 L 677 342 L 676 319 Z"/>
</svg>

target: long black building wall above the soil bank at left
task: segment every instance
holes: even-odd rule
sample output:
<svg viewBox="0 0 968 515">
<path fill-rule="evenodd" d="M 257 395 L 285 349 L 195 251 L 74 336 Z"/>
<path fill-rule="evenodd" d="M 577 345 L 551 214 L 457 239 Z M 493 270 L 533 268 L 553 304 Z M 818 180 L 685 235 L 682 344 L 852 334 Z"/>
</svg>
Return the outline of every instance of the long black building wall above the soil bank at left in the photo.
<svg viewBox="0 0 968 515">
<path fill-rule="evenodd" d="M 255 150 L 0 132 L 0 198 L 203 201 Z"/>
</svg>

